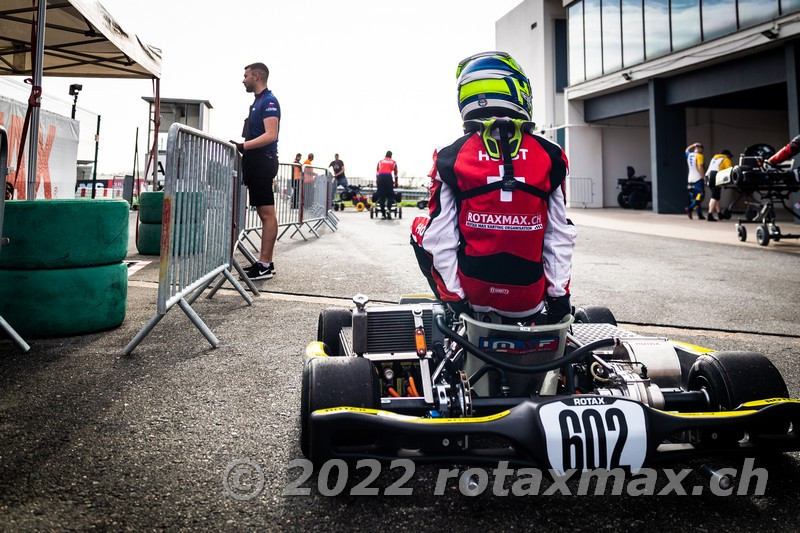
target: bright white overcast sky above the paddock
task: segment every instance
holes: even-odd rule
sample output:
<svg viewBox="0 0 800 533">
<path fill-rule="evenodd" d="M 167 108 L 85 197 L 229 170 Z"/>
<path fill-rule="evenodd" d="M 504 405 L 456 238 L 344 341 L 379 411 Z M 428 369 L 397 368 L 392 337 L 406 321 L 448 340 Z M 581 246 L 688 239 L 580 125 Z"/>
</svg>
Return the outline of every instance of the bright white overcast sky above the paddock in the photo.
<svg viewBox="0 0 800 533">
<path fill-rule="evenodd" d="M 348 176 L 374 177 L 386 150 L 401 174 L 422 176 L 431 154 L 461 133 L 458 61 L 495 49 L 495 22 L 521 0 L 101 0 L 127 30 L 162 49 L 162 98 L 208 100 L 210 132 L 238 139 L 252 95 L 243 67 L 262 61 L 281 104 L 279 155 L 339 153 Z M 531 73 L 528 73 L 529 75 Z M 69 116 L 68 87 L 81 83 L 79 159 L 130 173 L 136 127 L 146 151 L 149 80 L 45 77 L 45 109 Z M 7 83 L 0 94 L 21 100 Z"/>
</svg>

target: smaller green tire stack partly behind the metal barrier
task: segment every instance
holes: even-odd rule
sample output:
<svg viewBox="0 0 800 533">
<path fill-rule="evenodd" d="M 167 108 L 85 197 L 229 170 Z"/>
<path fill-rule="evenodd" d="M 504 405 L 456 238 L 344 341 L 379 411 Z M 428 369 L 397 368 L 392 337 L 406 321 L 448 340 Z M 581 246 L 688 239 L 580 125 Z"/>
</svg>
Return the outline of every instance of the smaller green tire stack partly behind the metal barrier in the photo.
<svg viewBox="0 0 800 533">
<path fill-rule="evenodd" d="M 188 196 L 184 196 L 188 195 Z M 193 199 L 194 205 L 191 201 L 183 199 Z M 180 203 L 184 201 L 183 209 L 194 209 L 195 222 L 202 219 L 204 202 L 203 196 L 200 193 L 178 193 L 175 202 Z M 160 255 L 161 254 L 161 213 L 164 206 L 164 192 L 152 191 L 143 192 L 139 196 L 139 227 L 136 233 L 136 249 L 142 255 Z M 182 251 L 185 253 L 196 253 L 203 248 L 203 233 L 205 225 L 201 223 L 188 224 L 186 229 L 178 226 L 175 230 L 175 242 L 173 246 L 181 246 L 184 233 L 189 239 L 188 245 Z"/>
</svg>

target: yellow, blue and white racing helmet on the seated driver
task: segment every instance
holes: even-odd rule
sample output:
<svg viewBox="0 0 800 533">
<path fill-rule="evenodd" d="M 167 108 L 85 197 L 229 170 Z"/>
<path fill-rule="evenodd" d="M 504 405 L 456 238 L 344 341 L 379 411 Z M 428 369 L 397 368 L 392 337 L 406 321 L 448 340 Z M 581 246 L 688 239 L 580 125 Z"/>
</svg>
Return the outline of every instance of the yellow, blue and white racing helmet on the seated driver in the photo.
<svg viewBox="0 0 800 533">
<path fill-rule="evenodd" d="M 456 78 L 458 109 L 463 120 L 489 117 L 531 119 L 530 80 L 506 52 L 482 52 L 462 60 Z"/>
</svg>

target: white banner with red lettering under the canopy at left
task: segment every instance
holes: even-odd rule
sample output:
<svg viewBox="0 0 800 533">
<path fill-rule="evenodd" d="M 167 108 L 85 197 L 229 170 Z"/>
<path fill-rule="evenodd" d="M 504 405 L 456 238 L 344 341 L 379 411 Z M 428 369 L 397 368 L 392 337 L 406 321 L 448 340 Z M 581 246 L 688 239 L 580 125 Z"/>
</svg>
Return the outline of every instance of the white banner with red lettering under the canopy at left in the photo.
<svg viewBox="0 0 800 533">
<path fill-rule="evenodd" d="M 15 185 L 14 198 L 25 199 L 28 182 L 29 142 L 17 174 L 19 140 L 25 123 L 27 104 L 0 96 L 0 124 L 8 131 L 8 166 L 6 180 Z M 28 132 L 30 133 L 30 126 Z M 77 177 L 80 123 L 41 109 L 39 112 L 39 153 L 36 166 L 36 198 L 74 198 Z"/>
</svg>

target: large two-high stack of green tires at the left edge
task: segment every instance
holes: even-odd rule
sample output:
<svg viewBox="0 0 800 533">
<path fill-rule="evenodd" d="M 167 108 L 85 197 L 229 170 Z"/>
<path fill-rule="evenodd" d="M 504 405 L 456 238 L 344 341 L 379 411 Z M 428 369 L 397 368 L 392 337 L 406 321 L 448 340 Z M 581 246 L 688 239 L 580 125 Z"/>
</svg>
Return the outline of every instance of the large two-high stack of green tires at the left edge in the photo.
<svg viewBox="0 0 800 533">
<path fill-rule="evenodd" d="M 29 338 L 122 324 L 129 212 L 124 200 L 6 202 L 0 316 Z"/>
</svg>

